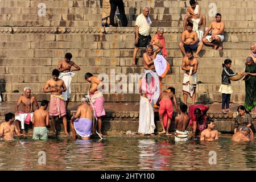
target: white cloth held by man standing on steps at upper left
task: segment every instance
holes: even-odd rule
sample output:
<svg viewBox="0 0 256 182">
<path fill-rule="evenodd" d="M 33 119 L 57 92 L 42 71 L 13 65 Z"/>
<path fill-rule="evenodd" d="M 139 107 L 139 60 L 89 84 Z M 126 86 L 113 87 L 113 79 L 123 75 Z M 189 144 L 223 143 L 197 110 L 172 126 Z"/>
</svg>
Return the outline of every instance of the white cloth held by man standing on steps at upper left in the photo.
<svg viewBox="0 0 256 182">
<path fill-rule="evenodd" d="M 67 90 L 62 93 L 64 101 L 67 101 L 71 96 L 71 81 L 72 81 L 72 77 L 75 74 L 76 73 L 73 73 L 73 72 L 60 73 L 59 79 L 64 81 L 64 84 L 66 85 L 66 88 L 67 88 Z"/>
</svg>

